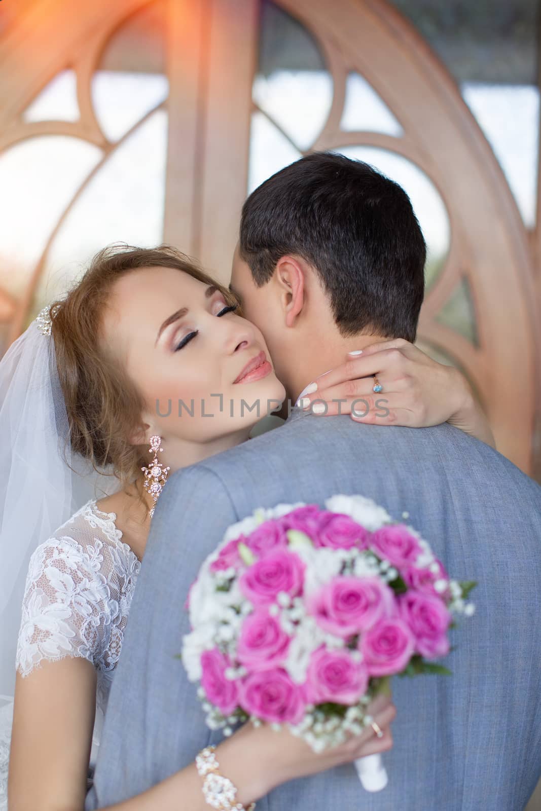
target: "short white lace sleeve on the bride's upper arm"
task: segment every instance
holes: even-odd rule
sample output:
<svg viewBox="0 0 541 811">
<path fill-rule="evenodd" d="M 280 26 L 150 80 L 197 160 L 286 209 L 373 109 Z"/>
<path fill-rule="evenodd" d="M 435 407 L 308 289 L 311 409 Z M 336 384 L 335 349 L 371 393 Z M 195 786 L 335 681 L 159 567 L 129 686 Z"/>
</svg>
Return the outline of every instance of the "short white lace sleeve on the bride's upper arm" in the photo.
<svg viewBox="0 0 541 811">
<path fill-rule="evenodd" d="M 60 535 L 32 554 L 16 656 L 22 676 L 44 659 L 82 656 L 96 667 L 102 662 L 107 631 L 118 613 L 102 573 L 103 546 L 98 538 L 83 547 Z"/>
</svg>

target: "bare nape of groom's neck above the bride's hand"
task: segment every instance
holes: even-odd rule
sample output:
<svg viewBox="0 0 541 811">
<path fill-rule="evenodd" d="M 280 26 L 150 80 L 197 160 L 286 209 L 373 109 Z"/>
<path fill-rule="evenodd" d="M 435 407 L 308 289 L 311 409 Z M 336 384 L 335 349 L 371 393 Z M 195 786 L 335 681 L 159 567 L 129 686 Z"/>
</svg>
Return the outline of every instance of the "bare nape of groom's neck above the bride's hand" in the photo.
<svg viewBox="0 0 541 811">
<path fill-rule="evenodd" d="M 291 353 L 291 361 L 290 363 L 288 361 L 287 368 L 281 375 L 288 397 L 294 403 L 303 388 L 316 380 L 316 377 L 346 363 L 348 352 L 363 350 L 377 341 L 384 340 L 378 335 L 340 337 L 334 341 L 327 341 L 325 336 L 320 336 L 314 345 L 299 345 L 298 349 Z"/>
</svg>

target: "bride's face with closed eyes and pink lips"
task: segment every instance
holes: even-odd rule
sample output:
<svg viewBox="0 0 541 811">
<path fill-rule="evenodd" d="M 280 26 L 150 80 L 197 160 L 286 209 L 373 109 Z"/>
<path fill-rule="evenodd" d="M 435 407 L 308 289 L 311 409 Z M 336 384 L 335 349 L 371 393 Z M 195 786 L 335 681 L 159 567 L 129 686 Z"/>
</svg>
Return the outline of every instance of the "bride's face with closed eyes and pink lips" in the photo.
<svg viewBox="0 0 541 811">
<path fill-rule="evenodd" d="M 148 434 L 163 438 L 167 464 L 175 447 L 190 464 L 198 454 L 187 455 L 187 444 L 245 438 L 285 397 L 259 329 L 220 290 L 174 268 L 121 277 L 104 333 L 144 397 Z"/>
</svg>

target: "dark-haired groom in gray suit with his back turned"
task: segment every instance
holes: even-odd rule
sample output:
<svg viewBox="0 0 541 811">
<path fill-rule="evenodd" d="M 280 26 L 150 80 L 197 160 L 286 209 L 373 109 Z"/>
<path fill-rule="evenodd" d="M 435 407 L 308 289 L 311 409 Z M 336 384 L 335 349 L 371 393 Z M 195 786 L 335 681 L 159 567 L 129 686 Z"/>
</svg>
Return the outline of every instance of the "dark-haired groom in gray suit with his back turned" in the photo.
<svg viewBox="0 0 541 811">
<path fill-rule="evenodd" d="M 381 337 L 414 341 L 425 246 L 410 201 L 365 164 L 316 154 L 282 169 L 243 208 L 232 289 L 264 334 L 295 401 L 318 375 Z M 381 397 L 384 397 L 382 393 Z M 448 423 L 423 429 L 318 419 L 285 425 L 179 470 L 161 496 L 114 676 L 86 809 L 144 792 L 217 733 L 181 663 L 183 605 L 225 527 L 255 507 L 359 493 L 410 513 L 477 612 L 452 677 L 396 679 L 389 786 L 353 767 L 285 783 L 268 811 L 522 809 L 541 773 L 541 488 Z M 258 804 L 259 805 L 259 804 Z M 182 809 L 182 798 L 178 808 Z"/>
</svg>

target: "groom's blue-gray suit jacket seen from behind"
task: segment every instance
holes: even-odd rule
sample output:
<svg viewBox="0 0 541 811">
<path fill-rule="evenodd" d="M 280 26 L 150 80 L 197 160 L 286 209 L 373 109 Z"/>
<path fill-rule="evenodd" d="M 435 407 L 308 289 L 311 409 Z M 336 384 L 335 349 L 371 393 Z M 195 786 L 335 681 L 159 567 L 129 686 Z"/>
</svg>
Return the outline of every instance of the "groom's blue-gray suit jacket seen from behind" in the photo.
<svg viewBox="0 0 541 811">
<path fill-rule="evenodd" d="M 264 436 L 179 470 L 152 519 L 86 811 L 193 761 L 211 733 L 182 663 L 183 605 L 225 527 L 257 506 L 360 493 L 410 523 L 459 580 L 474 617 L 452 632 L 453 676 L 393 680 L 389 786 L 353 766 L 286 783 L 261 811 L 523 809 L 541 775 L 541 487 L 447 423 L 380 427 L 294 410 Z M 182 809 L 182 797 L 178 798 Z"/>
</svg>

